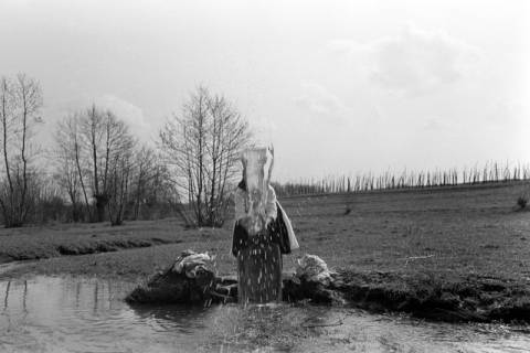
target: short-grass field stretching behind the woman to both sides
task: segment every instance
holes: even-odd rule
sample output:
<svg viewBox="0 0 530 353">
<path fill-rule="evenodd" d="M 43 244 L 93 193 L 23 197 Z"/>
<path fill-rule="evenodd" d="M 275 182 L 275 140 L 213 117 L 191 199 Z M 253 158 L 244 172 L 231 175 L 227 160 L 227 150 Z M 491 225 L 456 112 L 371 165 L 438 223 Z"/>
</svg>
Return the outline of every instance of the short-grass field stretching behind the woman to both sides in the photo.
<svg viewBox="0 0 530 353">
<path fill-rule="evenodd" d="M 516 201 L 528 188 L 519 182 L 287 197 L 280 202 L 300 250 L 284 257 L 284 268 L 293 269 L 296 257 L 308 253 L 331 268 L 351 270 L 369 286 L 406 290 L 418 280 L 447 286 L 474 279 L 484 285 L 488 279 L 504 289 L 516 286 L 527 291 L 530 213 L 517 210 Z M 0 232 L 4 260 L 50 258 L 4 268 L 0 278 L 72 274 L 141 281 L 188 248 L 215 254 L 219 272 L 234 274 L 231 226 L 229 222 L 221 229 L 186 229 L 178 220 L 163 220 L 124 227 L 4 229 Z M 57 250 L 64 246 L 98 253 L 108 250 L 106 245 L 112 253 L 64 256 L 68 253 Z M 137 245 L 145 247 L 125 249 Z M 505 290 L 505 296 L 510 292 Z"/>
</svg>

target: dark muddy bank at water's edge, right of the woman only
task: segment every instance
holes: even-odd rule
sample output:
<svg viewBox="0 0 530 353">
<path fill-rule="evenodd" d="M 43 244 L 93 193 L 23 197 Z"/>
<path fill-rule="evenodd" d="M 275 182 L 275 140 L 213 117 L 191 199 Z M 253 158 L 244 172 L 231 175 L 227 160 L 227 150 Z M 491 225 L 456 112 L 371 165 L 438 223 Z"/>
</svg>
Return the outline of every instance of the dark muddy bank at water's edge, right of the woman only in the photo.
<svg viewBox="0 0 530 353">
<path fill-rule="evenodd" d="M 530 288 L 516 281 L 467 276 L 446 280 L 439 277 L 393 272 L 359 274 L 339 269 L 329 286 L 318 288 L 314 297 L 312 285 L 292 280 L 284 282 L 286 299 L 310 297 L 320 302 L 336 302 L 336 297 L 347 304 L 370 311 L 407 312 L 417 318 L 449 322 L 530 322 Z"/>
</svg>

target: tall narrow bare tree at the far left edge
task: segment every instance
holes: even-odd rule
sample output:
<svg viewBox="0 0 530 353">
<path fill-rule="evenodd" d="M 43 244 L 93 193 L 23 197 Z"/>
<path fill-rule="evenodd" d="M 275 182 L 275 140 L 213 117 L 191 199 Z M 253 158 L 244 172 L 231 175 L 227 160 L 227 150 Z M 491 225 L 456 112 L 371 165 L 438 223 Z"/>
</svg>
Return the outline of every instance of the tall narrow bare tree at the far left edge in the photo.
<svg viewBox="0 0 530 353">
<path fill-rule="evenodd" d="M 32 145 L 34 126 L 40 121 L 42 92 L 39 83 L 24 74 L 14 81 L 0 79 L 0 125 L 3 175 L 0 206 L 6 227 L 22 226 L 34 205 L 31 178 L 36 175 Z"/>
</svg>

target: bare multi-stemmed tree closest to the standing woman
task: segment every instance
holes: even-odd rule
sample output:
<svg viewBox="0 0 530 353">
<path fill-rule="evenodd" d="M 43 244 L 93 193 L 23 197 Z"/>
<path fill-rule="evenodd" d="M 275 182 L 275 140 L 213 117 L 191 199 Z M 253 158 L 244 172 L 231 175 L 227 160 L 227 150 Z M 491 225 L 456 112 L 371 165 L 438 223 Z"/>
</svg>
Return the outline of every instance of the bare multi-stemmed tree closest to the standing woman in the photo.
<svg viewBox="0 0 530 353">
<path fill-rule="evenodd" d="M 160 130 L 161 150 L 174 167 L 174 181 L 187 194 L 197 225 L 223 224 L 227 184 L 234 181 L 239 153 L 250 136 L 247 121 L 227 99 L 204 87 Z"/>
</svg>

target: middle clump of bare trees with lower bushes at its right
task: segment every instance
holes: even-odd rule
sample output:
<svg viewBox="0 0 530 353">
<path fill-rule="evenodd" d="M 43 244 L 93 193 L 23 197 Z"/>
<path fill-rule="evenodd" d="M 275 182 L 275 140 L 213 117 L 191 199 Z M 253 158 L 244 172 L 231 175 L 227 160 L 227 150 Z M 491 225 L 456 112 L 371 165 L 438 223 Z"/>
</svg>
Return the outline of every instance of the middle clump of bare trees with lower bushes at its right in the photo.
<svg viewBox="0 0 530 353">
<path fill-rule="evenodd" d="M 179 195 L 159 153 L 140 145 L 110 110 L 66 117 L 55 133 L 55 179 L 72 205 L 74 222 L 120 225 L 142 218 L 153 204 L 178 205 Z"/>
</svg>

